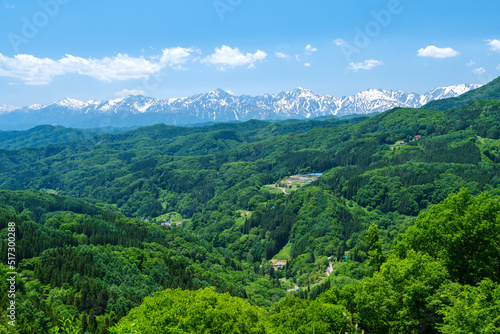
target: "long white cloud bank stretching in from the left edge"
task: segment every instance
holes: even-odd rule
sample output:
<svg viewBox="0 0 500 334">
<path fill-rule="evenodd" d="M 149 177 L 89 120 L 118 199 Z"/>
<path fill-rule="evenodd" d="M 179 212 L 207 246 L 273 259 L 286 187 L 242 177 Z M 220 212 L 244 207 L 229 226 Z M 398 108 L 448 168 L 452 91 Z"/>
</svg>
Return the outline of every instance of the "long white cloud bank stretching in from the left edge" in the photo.
<svg viewBox="0 0 500 334">
<path fill-rule="evenodd" d="M 164 49 L 161 56 L 145 59 L 119 53 L 101 59 L 65 55 L 61 59 L 37 58 L 19 54 L 13 58 L 0 54 L 0 77 L 17 78 L 27 85 L 47 85 L 55 77 L 77 73 L 99 81 L 122 81 L 148 78 L 169 66 L 181 69 L 193 49 Z"/>
</svg>

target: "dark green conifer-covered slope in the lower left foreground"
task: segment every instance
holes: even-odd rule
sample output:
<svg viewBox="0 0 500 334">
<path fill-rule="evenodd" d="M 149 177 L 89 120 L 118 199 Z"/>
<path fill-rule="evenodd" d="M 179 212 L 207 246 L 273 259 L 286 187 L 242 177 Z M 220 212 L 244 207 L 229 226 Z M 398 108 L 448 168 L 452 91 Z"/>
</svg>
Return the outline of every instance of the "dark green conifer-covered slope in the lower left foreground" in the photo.
<svg viewBox="0 0 500 334">
<path fill-rule="evenodd" d="M 2 254 L 12 229 L 18 318 L 9 333 L 48 333 L 68 319 L 83 331 L 107 333 L 155 291 L 213 286 L 246 297 L 250 284 L 239 262 L 182 227 L 120 217 L 81 200 L 0 191 Z M 2 284 L 10 271 L 0 264 Z M 2 309 L 8 302 L 2 294 Z M 6 322 L 0 319 L 0 330 Z"/>
</svg>

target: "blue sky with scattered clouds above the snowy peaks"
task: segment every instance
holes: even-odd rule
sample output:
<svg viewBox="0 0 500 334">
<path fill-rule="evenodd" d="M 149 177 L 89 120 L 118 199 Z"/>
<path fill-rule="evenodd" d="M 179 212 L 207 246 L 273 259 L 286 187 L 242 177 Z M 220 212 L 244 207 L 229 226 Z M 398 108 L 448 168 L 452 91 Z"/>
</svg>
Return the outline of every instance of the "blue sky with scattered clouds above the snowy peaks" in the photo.
<svg viewBox="0 0 500 334">
<path fill-rule="evenodd" d="M 215 88 L 423 93 L 500 76 L 491 0 L 0 0 L 0 104 Z"/>
</svg>

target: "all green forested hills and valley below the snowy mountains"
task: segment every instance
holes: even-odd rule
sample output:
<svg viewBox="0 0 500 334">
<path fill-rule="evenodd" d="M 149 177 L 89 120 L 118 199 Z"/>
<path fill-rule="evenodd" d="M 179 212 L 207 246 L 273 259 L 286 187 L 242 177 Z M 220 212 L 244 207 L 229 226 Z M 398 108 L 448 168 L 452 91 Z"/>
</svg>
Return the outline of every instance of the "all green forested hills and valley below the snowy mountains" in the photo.
<svg viewBox="0 0 500 334">
<path fill-rule="evenodd" d="M 1 133 L 0 333 L 499 333 L 497 83 L 445 110 Z"/>
</svg>

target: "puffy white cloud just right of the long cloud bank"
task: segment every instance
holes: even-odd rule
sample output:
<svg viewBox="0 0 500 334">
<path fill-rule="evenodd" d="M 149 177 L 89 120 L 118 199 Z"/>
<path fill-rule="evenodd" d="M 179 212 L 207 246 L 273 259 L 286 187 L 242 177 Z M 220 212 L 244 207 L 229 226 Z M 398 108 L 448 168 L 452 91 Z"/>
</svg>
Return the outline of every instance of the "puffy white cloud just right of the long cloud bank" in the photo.
<svg viewBox="0 0 500 334">
<path fill-rule="evenodd" d="M 203 62 L 218 65 L 220 71 L 225 71 L 225 66 L 248 65 L 248 68 L 255 68 L 255 63 L 264 61 L 266 57 L 267 54 L 261 50 L 257 50 L 254 54 L 243 54 L 238 48 L 233 49 L 223 45 L 221 48 L 215 48 L 215 53 L 203 59 Z"/>
</svg>

